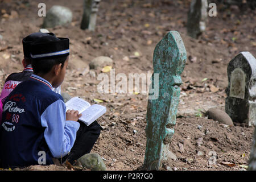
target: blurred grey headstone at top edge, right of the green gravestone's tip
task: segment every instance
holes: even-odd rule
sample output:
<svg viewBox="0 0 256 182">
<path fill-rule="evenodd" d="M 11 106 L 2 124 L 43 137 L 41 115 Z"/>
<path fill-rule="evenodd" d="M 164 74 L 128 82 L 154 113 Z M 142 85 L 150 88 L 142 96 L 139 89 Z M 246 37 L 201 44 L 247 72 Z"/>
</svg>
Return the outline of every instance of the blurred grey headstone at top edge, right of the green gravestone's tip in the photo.
<svg viewBox="0 0 256 182">
<path fill-rule="evenodd" d="M 207 0 L 192 0 L 187 20 L 187 33 L 192 38 L 197 38 L 205 31 L 208 16 Z"/>
</svg>

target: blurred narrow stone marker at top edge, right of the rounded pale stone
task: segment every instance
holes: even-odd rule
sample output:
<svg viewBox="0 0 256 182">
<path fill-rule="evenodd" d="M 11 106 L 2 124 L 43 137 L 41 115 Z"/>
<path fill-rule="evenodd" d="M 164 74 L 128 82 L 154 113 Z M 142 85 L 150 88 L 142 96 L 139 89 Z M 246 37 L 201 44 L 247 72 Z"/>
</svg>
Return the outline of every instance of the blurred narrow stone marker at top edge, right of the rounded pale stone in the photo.
<svg viewBox="0 0 256 182">
<path fill-rule="evenodd" d="M 84 0 L 84 14 L 82 15 L 81 29 L 94 31 L 99 3 L 101 0 Z"/>
</svg>

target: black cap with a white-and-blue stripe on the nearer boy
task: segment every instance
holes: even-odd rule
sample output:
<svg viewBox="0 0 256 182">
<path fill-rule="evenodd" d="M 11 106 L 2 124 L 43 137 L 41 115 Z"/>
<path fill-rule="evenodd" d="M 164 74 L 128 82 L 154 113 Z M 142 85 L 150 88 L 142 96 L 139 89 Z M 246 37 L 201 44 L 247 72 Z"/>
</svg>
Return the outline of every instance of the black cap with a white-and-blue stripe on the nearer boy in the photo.
<svg viewBox="0 0 256 182">
<path fill-rule="evenodd" d="M 65 57 L 69 55 L 69 39 L 43 36 L 31 44 L 32 59 Z"/>
</svg>

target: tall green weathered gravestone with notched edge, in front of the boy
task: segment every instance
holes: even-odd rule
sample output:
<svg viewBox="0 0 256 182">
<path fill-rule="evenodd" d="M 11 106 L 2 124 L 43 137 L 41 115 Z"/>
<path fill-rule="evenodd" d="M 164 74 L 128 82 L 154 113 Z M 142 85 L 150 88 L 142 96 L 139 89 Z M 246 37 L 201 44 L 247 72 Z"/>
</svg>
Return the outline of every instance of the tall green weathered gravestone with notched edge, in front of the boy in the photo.
<svg viewBox="0 0 256 182">
<path fill-rule="evenodd" d="M 157 97 L 152 96 L 152 88 L 148 93 L 146 152 L 144 168 L 158 170 L 162 160 L 168 158 L 168 147 L 176 123 L 177 105 L 179 104 L 180 88 L 187 52 L 179 32 L 170 31 L 156 45 L 153 65 L 154 73 L 151 80 L 154 88 L 158 86 Z M 154 77 L 158 76 L 156 84 Z M 154 94 L 155 95 L 155 94 Z"/>
</svg>

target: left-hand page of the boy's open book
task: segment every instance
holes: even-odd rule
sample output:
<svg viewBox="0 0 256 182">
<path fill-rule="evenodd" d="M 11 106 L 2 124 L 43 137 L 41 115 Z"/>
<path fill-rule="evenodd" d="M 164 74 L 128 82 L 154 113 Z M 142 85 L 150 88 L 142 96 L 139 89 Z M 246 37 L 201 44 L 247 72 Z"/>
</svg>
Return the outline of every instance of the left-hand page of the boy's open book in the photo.
<svg viewBox="0 0 256 182">
<path fill-rule="evenodd" d="M 79 97 L 73 97 L 71 98 L 71 100 L 69 100 L 68 102 L 65 103 L 67 110 L 78 110 L 79 113 L 82 113 L 82 111 L 84 111 L 85 109 L 87 109 L 88 107 L 90 107 L 90 103 L 82 100 Z"/>
</svg>

